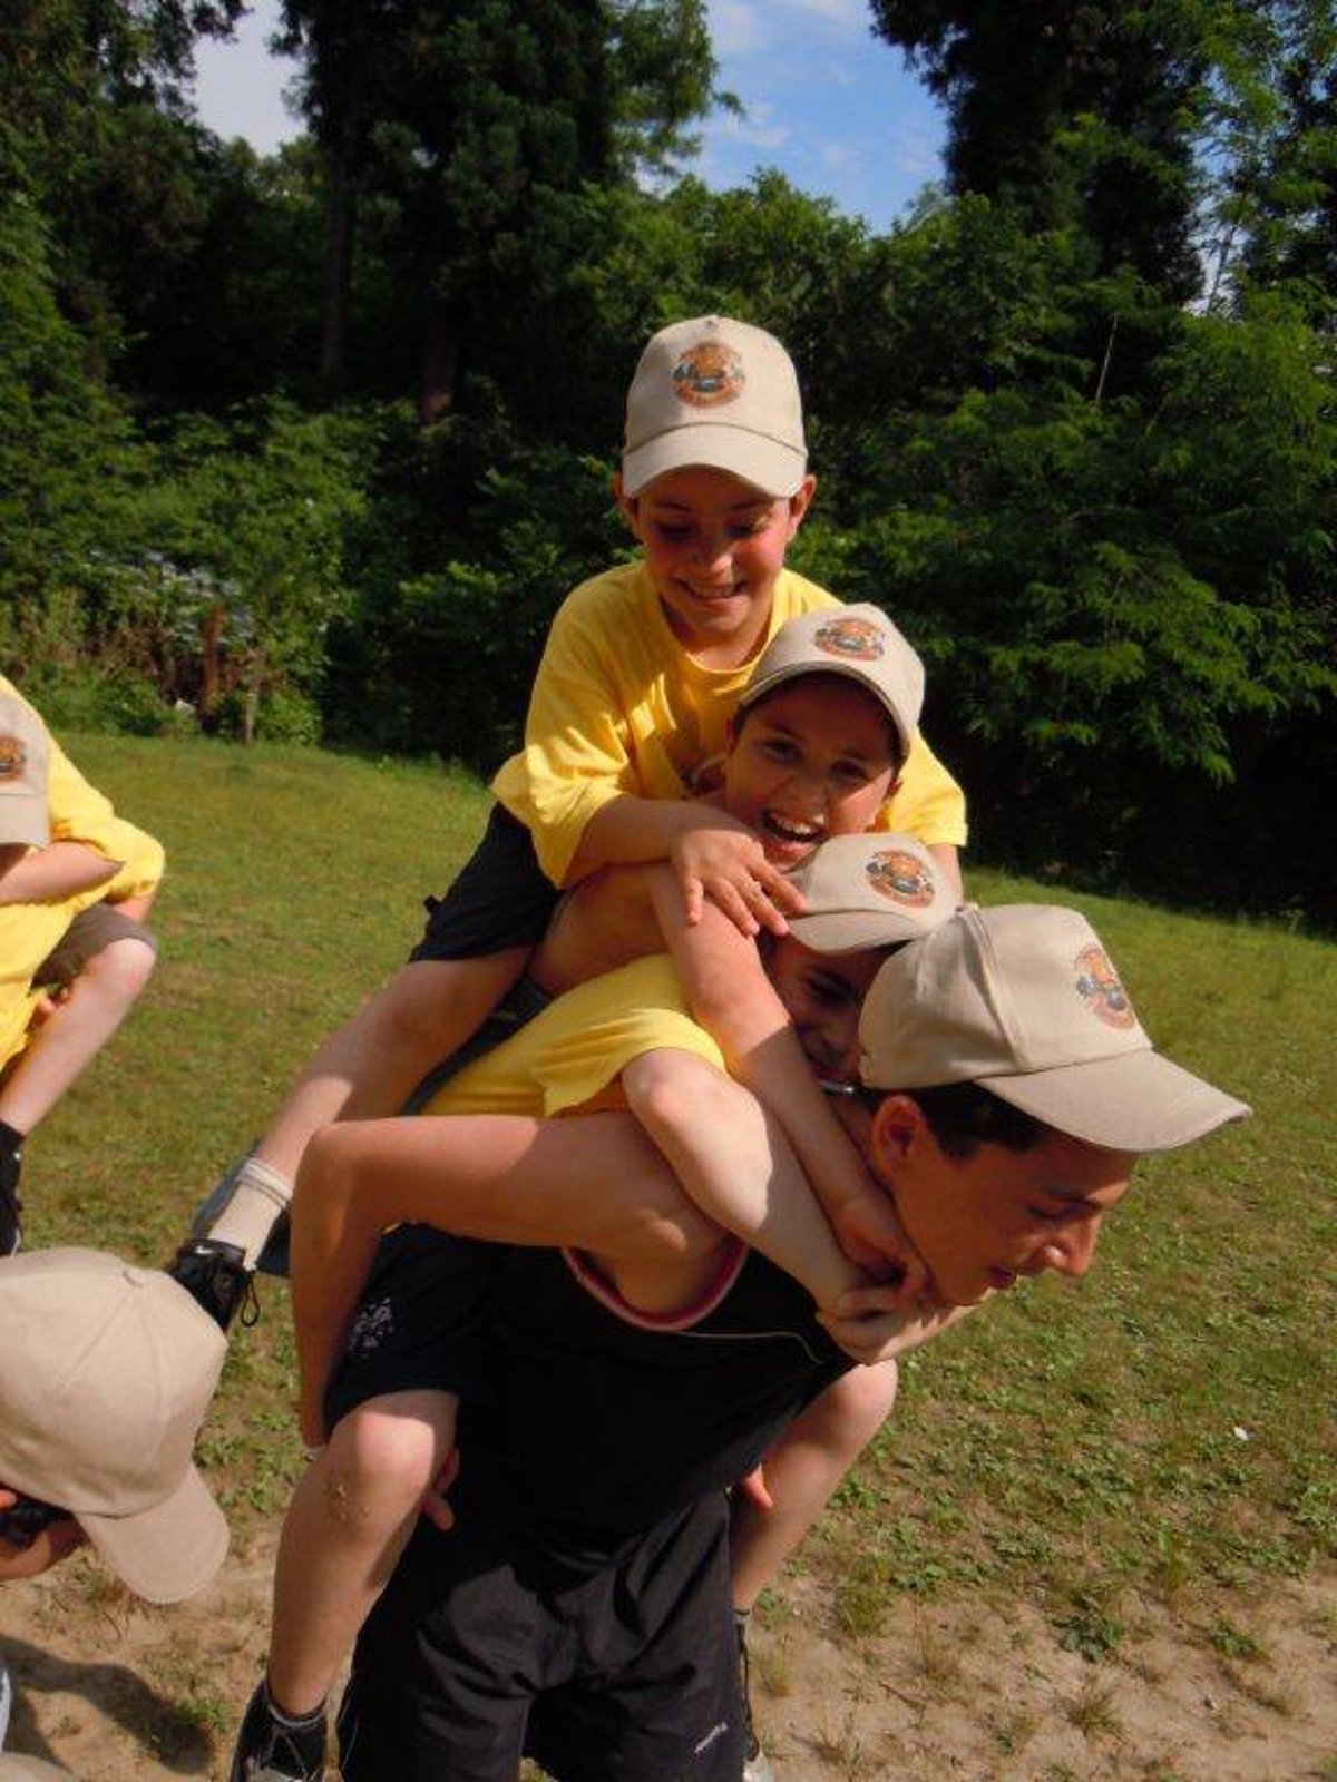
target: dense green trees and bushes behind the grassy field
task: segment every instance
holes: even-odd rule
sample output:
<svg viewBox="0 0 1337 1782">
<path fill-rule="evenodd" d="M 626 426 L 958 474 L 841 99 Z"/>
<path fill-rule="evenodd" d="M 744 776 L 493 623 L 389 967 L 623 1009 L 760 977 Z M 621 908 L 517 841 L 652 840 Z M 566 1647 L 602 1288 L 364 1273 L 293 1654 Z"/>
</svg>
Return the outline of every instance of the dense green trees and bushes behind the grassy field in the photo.
<svg viewBox="0 0 1337 1782">
<path fill-rule="evenodd" d="M 53 722 L 492 766 L 627 545 L 640 344 L 718 308 L 799 362 L 795 561 L 925 654 L 975 857 L 1337 918 L 1330 9 L 879 0 L 950 121 L 882 237 L 674 171 L 699 0 L 289 4 L 273 160 L 182 100 L 235 11 L 0 43 L 0 658 Z"/>
</svg>

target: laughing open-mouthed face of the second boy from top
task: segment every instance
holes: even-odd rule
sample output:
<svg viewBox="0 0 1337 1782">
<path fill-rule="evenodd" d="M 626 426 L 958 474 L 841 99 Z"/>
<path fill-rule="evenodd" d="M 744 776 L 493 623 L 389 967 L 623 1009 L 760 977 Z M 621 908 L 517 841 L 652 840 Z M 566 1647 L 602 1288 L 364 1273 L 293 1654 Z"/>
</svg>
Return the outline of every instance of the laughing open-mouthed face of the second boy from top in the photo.
<svg viewBox="0 0 1337 1782">
<path fill-rule="evenodd" d="M 886 707 L 841 675 L 811 674 L 740 713 L 724 761 L 724 807 L 788 871 L 829 836 L 870 829 L 895 788 Z"/>
</svg>

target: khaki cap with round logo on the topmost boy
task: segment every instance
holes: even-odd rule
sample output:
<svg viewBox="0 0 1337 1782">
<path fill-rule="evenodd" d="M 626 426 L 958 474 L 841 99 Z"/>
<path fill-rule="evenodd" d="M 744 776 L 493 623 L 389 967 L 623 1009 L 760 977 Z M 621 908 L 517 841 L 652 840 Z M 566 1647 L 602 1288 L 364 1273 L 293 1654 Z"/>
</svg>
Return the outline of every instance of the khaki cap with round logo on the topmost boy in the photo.
<svg viewBox="0 0 1337 1782">
<path fill-rule="evenodd" d="M 708 465 L 767 495 L 793 495 L 808 474 L 793 362 L 774 335 L 727 315 L 661 328 L 627 390 L 622 492 L 665 470 Z"/>
</svg>

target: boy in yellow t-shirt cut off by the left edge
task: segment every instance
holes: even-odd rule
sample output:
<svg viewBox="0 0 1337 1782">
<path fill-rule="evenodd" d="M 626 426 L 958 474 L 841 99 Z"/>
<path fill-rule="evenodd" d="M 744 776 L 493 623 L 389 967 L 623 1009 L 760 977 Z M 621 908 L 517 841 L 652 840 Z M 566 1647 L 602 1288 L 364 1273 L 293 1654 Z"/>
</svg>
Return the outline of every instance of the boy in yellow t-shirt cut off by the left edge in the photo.
<svg viewBox="0 0 1337 1782">
<path fill-rule="evenodd" d="M 162 864 L 0 675 L 0 1255 L 20 1242 L 23 1140 L 153 969 Z"/>
</svg>

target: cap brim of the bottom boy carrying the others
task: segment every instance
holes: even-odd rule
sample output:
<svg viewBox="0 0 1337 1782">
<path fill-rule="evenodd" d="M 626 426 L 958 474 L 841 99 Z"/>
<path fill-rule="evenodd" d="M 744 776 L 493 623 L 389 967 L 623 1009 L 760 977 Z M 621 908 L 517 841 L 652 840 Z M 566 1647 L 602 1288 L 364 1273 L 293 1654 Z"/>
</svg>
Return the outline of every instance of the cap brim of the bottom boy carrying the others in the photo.
<svg viewBox="0 0 1337 1782">
<path fill-rule="evenodd" d="M 1107 1151 L 1175 1151 L 1253 1112 L 1150 1050 L 977 1082 L 1046 1126 Z"/>
</svg>

